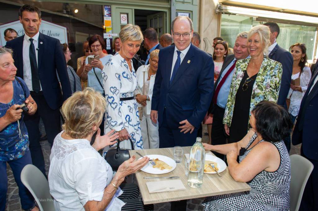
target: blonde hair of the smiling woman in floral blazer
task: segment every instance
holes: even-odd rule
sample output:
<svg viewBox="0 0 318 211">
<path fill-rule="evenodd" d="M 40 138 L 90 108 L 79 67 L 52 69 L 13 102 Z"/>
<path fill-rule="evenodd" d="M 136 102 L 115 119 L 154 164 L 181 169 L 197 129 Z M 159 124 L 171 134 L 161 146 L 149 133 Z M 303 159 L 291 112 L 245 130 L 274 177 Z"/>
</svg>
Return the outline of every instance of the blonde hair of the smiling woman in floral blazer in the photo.
<svg viewBox="0 0 318 211">
<path fill-rule="evenodd" d="M 270 35 L 271 32 L 269 28 L 265 25 L 254 26 L 247 34 L 247 40 L 251 38 L 252 35 L 258 33 L 260 42 L 264 47 L 264 53 L 268 56 L 268 47 L 271 45 Z"/>
</svg>

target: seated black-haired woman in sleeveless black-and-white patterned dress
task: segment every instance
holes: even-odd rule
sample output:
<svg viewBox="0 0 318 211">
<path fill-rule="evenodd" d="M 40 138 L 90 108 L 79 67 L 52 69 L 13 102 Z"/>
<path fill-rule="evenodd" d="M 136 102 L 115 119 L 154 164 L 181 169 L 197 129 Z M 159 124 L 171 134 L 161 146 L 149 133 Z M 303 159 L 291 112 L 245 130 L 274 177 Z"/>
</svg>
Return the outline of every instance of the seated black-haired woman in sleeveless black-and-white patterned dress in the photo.
<svg viewBox="0 0 318 211">
<path fill-rule="evenodd" d="M 226 155 L 233 179 L 251 186 L 250 191 L 206 198 L 205 210 L 289 210 L 290 160 L 283 141 L 293 126 L 289 114 L 261 101 L 250 124 L 252 129 L 237 143 L 203 144 L 205 150 Z"/>
</svg>

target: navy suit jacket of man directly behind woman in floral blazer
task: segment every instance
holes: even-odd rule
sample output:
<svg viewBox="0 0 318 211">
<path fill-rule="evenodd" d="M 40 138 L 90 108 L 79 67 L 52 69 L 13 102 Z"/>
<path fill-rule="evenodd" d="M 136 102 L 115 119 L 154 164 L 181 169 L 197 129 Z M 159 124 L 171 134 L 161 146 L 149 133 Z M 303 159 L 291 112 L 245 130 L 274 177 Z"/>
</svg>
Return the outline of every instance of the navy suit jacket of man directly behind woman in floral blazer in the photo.
<svg viewBox="0 0 318 211">
<path fill-rule="evenodd" d="M 280 91 L 278 95 L 278 105 L 284 105 L 286 108 L 286 99 L 290 89 L 290 81 L 293 73 L 293 57 L 287 50 L 281 48 L 278 44 L 271 51 L 268 57 L 278 61 L 283 66 L 283 74 L 281 76 Z"/>
</svg>

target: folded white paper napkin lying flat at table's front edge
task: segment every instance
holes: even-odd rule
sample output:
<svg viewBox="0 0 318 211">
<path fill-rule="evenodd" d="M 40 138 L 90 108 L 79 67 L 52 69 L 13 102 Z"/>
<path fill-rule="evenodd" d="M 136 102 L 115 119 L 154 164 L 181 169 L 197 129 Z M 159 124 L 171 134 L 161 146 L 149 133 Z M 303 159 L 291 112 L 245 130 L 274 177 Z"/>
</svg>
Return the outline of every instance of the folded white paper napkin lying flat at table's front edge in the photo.
<svg viewBox="0 0 318 211">
<path fill-rule="evenodd" d="M 181 180 L 146 182 L 149 193 L 185 190 Z"/>
</svg>

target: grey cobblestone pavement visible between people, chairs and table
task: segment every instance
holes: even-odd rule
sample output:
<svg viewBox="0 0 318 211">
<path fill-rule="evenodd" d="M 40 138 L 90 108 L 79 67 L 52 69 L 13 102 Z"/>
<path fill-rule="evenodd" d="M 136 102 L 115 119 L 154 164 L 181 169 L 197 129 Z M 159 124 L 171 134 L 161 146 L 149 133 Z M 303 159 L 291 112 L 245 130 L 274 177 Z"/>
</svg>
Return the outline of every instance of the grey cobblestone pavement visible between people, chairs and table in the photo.
<svg viewBox="0 0 318 211">
<path fill-rule="evenodd" d="M 207 132 L 206 125 L 203 125 L 203 142 L 207 143 L 209 137 L 207 135 L 204 135 L 204 133 Z M 50 167 L 50 144 L 47 141 L 41 141 L 42 151 L 45 158 L 45 169 L 46 174 L 49 172 Z M 300 154 L 300 146 L 301 144 L 297 146 L 291 147 L 290 155 L 292 154 Z M 7 174 L 8 174 L 8 193 L 7 193 L 7 205 L 6 205 L 6 211 L 20 211 L 21 210 L 21 204 L 20 199 L 18 195 L 18 188 L 17 184 L 15 183 L 12 170 L 9 165 L 7 165 Z M 201 206 L 201 202 L 204 198 L 197 198 L 197 199 L 191 199 L 187 201 L 187 211 L 199 211 L 202 210 L 203 207 Z M 164 203 L 157 203 L 155 204 L 155 211 L 169 211 L 170 210 L 170 203 L 164 202 Z"/>
</svg>

